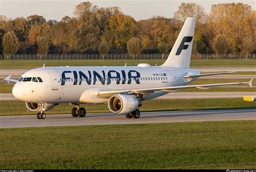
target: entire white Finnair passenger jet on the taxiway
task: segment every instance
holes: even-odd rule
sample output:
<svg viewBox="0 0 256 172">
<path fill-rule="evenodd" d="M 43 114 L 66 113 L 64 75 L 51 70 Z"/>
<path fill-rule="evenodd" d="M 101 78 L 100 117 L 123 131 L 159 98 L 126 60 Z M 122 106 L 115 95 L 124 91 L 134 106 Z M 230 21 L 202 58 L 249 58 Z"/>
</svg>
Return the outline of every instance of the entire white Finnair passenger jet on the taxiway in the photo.
<svg viewBox="0 0 256 172">
<path fill-rule="evenodd" d="M 75 105 L 73 117 L 85 117 L 80 104 L 107 103 L 113 113 L 139 118 L 138 107 L 148 99 L 163 96 L 178 89 L 209 89 L 218 85 L 249 84 L 250 82 L 187 85 L 201 76 L 225 73 L 200 74 L 189 69 L 196 18 L 187 18 L 168 59 L 161 66 L 140 63 L 138 66 L 111 67 L 42 67 L 24 73 L 12 94 L 24 101 L 30 111 L 38 112 L 38 119 L 45 119 L 59 103 Z"/>
</svg>

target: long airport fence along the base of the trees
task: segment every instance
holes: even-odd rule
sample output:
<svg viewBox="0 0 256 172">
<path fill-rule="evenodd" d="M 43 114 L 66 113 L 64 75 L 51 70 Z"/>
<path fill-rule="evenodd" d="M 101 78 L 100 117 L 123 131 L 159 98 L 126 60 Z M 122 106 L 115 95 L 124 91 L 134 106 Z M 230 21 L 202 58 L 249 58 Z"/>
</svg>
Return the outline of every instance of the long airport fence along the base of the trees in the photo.
<svg viewBox="0 0 256 172">
<path fill-rule="evenodd" d="M 165 60 L 169 54 L 14 54 L 0 55 L 0 60 Z M 255 54 L 192 54 L 193 60 L 207 59 L 252 59 Z"/>
</svg>

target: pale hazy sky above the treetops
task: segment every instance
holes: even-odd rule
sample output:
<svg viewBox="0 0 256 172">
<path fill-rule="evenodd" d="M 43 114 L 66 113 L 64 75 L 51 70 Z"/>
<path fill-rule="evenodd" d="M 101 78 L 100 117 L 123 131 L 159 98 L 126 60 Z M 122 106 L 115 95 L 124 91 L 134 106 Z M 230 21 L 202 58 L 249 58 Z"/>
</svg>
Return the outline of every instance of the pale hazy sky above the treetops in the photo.
<svg viewBox="0 0 256 172">
<path fill-rule="evenodd" d="M 84 0 L 89 1 L 89 0 Z M 73 17 L 73 9 L 81 2 L 79 0 L 0 0 L 0 15 L 14 19 L 16 17 L 28 17 L 30 15 L 40 15 L 46 20 L 61 20 L 64 16 Z M 238 3 L 248 4 L 255 10 L 254 0 L 194 0 L 194 1 L 174 1 L 174 0 L 91 0 L 91 3 L 99 7 L 119 6 L 126 15 L 132 16 L 136 20 L 148 19 L 153 16 L 164 16 L 172 18 L 173 13 L 178 10 L 182 3 L 197 3 L 205 8 L 207 13 L 211 11 L 212 4 Z"/>
</svg>

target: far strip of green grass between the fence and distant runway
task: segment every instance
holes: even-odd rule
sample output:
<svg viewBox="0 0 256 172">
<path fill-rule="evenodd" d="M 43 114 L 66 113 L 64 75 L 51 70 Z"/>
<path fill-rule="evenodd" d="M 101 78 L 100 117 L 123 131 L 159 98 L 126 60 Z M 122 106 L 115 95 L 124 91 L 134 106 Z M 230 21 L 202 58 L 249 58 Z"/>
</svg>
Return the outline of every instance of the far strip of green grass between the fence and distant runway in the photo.
<svg viewBox="0 0 256 172">
<path fill-rule="evenodd" d="M 38 68 L 45 66 L 137 66 L 138 63 L 161 65 L 165 60 L 66 60 L 66 61 L 0 61 L 0 69 Z M 191 60 L 193 67 L 255 67 L 256 60 Z"/>
</svg>

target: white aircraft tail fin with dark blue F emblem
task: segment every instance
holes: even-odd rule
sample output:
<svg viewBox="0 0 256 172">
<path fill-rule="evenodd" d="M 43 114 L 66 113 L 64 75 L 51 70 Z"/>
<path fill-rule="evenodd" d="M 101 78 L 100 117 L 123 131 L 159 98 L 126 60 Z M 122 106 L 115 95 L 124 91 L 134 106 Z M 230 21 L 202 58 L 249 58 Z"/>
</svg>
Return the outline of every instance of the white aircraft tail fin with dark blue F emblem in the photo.
<svg viewBox="0 0 256 172">
<path fill-rule="evenodd" d="M 162 66 L 190 67 L 195 24 L 196 17 L 188 17 L 186 19 L 170 55 Z"/>
</svg>

